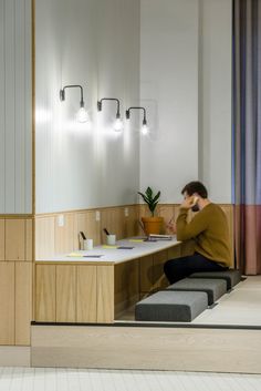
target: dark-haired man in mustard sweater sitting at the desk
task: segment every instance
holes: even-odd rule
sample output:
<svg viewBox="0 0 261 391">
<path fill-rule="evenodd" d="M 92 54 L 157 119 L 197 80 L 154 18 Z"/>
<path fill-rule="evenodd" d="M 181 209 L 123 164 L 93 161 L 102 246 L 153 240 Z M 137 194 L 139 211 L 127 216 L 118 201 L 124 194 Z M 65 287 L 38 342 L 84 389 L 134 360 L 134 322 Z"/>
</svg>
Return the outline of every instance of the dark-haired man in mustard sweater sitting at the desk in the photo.
<svg viewBox="0 0 261 391">
<path fill-rule="evenodd" d="M 177 234 L 177 240 L 195 240 L 194 255 L 169 259 L 164 271 L 170 284 L 174 284 L 196 271 L 222 271 L 229 266 L 231 248 L 229 228 L 223 210 L 208 199 L 208 192 L 200 182 L 190 182 L 181 194 L 176 224 L 169 229 Z M 187 223 L 188 210 L 198 212 Z"/>
</svg>

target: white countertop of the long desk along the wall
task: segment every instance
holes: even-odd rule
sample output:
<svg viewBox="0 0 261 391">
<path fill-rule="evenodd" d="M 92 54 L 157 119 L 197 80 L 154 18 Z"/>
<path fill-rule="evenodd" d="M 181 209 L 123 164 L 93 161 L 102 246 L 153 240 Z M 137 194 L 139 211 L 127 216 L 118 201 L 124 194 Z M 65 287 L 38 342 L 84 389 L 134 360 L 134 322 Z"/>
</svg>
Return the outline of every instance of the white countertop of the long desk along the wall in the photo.
<svg viewBox="0 0 261 391">
<path fill-rule="evenodd" d="M 36 260 L 36 264 L 105 264 L 116 265 L 132 259 L 142 258 L 150 254 L 163 251 L 179 245 L 174 236 L 171 240 L 157 240 L 157 241 L 139 241 L 138 238 L 129 238 L 117 240 L 115 246 L 96 246 L 93 250 L 73 251 L 70 254 L 61 254 L 52 258 L 44 258 Z M 118 247 L 133 247 L 132 249 Z M 96 258 L 95 256 L 101 255 Z"/>
</svg>

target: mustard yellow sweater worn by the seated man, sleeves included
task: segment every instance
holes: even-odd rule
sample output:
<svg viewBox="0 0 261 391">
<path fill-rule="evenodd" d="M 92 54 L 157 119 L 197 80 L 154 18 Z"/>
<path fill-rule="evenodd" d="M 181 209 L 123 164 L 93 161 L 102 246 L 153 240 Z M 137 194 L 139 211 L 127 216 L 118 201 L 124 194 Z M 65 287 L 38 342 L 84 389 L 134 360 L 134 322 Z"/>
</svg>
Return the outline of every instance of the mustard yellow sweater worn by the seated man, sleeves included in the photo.
<svg viewBox="0 0 261 391">
<path fill-rule="evenodd" d="M 188 209 L 180 208 L 177 218 L 177 240 L 195 239 L 195 251 L 221 266 L 229 266 L 231 248 L 223 210 L 216 204 L 206 205 L 190 223 Z"/>
</svg>

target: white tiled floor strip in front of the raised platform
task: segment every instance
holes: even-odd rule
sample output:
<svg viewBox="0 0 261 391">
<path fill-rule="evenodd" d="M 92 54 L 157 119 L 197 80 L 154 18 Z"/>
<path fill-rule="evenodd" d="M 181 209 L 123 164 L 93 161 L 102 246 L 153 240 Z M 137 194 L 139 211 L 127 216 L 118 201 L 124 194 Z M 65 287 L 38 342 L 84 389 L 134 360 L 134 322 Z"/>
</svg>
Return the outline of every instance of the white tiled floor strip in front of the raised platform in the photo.
<svg viewBox="0 0 261 391">
<path fill-rule="evenodd" d="M 0 368 L 0 391 L 261 391 L 261 375 Z"/>
</svg>

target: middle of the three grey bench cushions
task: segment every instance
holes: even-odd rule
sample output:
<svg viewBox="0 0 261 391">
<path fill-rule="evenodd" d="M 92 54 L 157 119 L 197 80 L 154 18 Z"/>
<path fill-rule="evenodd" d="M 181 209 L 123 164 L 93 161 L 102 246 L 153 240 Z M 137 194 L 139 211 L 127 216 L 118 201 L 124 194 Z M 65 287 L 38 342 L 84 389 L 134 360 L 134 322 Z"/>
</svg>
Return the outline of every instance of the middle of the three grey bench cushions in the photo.
<svg viewBox="0 0 261 391">
<path fill-rule="evenodd" d="M 203 291 L 208 295 L 208 305 L 211 306 L 227 292 L 227 282 L 216 278 L 184 278 L 170 285 L 167 290 Z"/>
</svg>

